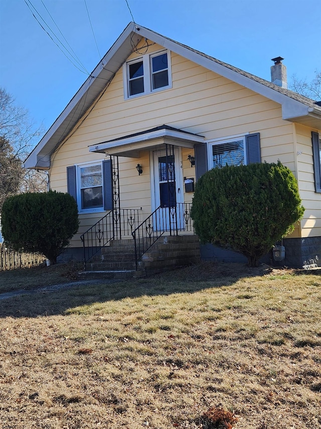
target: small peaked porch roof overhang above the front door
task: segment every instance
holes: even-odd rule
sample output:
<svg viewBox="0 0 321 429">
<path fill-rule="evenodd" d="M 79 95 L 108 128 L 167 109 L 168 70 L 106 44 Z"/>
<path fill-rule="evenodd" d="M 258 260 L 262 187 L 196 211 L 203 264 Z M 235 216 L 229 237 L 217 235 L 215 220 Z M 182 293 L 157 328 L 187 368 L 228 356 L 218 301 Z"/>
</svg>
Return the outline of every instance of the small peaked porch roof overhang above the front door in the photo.
<svg viewBox="0 0 321 429">
<path fill-rule="evenodd" d="M 168 125 L 162 125 L 89 146 L 89 152 L 139 158 L 140 152 L 152 150 L 159 147 L 160 144 L 173 144 L 175 146 L 193 149 L 194 144 L 202 143 L 204 138 L 204 136 L 199 134 L 183 131 Z"/>
</svg>

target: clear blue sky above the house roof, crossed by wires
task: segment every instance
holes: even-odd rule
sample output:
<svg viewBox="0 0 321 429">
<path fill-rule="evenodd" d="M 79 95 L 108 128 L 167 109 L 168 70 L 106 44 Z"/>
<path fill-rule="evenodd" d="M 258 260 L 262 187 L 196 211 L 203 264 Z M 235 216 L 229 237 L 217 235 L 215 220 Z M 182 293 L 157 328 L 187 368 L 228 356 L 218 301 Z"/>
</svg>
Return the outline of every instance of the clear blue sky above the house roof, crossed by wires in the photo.
<svg viewBox="0 0 321 429">
<path fill-rule="evenodd" d="M 37 23 L 26 2 L 91 72 L 132 21 L 126 0 L 0 0 L 0 86 L 49 128 L 87 78 Z M 321 70 L 321 0 L 128 0 L 144 27 L 270 80 L 282 56 L 288 80 Z M 45 7 L 44 7 L 45 6 Z"/>
</svg>

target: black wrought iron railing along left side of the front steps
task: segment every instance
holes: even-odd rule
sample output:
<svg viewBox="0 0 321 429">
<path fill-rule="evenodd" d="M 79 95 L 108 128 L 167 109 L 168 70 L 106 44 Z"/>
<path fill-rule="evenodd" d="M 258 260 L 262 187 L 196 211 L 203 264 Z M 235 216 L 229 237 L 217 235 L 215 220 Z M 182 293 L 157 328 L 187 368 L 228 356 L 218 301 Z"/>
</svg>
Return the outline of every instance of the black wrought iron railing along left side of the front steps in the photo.
<svg viewBox="0 0 321 429">
<path fill-rule="evenodd" d="M 109 241 L 132 235 L 132 232 L 139 224 L 140 210 L 110 210 L 110 212 L 80 236 L 83 243 L 85 270 L 86 262 L 97 254 L 102 247 L 106 246 Z"/>
</svg>

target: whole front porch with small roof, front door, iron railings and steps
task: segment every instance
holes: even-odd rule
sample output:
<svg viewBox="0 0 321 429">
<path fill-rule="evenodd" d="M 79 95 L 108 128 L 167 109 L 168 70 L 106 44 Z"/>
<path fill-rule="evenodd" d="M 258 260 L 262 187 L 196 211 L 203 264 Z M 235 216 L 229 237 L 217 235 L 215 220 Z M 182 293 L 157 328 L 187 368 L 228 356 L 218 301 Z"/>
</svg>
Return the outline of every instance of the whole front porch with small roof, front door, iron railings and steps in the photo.
<svg viewBox="0 0 321 429">
<path fill-rule="evenodd" d="M 200 259 L 190 211 L 195 180 L 194 145 L 203 139 L 163 125 L 89 147 L 90 152 L 109 157 L 105 161 L 109 167 L 104 183 L 110 180 L 106 195 L 111 209 L 80 236 L 85 272 L 103 268 L 102 271 L 144 273 Z M 138 173 L 143 179 L 135 188 L 132 184 L 136 179 L 128 173 L 128 165 L 135 165 L 134 177 Z M 141 184 L 147 181 L 149 196 L 144 191 L 139 209 Z M 126 205 L 136 208 L 124 208 Z"/>
</svg>

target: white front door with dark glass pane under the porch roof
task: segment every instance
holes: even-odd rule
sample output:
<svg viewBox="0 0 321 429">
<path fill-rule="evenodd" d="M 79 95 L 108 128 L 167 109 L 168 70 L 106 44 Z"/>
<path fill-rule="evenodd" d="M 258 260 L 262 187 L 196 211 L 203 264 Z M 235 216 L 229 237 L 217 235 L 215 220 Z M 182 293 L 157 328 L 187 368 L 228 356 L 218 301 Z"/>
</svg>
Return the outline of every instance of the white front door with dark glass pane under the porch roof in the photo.
<svg viewBox="0 0 321 429">
<path fill-rule="evenodd" d="M 173 146 L 153 152 L 153 210 L 160 207 L 153 221 L 157 230 L 175 231 L 181 227 L 178 203 L 183 202 L 184 193 L 179 155 L 179 148 Z"/>
</svg>

